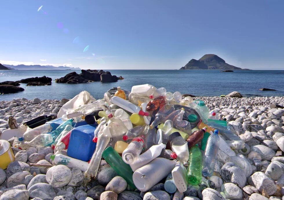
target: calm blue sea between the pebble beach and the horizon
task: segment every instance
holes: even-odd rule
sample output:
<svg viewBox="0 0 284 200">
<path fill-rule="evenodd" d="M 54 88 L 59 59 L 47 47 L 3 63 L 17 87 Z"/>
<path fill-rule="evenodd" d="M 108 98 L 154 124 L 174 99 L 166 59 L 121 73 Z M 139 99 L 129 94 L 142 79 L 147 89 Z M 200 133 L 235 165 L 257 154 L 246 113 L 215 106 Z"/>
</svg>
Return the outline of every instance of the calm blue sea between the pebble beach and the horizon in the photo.
<svg viewBox="0 0 284 200">
<path fill-rule="evenodd" d="M 112 75 L 122 76 L 124 80 L 113 83 L 91 82 L 82 84 L 55 83 L 70 73 L 66 70 L 0 70 L 0 82 L 17 81 L 35 76 L 52 78 L 50 86 L 26 86 L 25 91 L 0 95 L 0 100 L 15 98 L 61 99 L 73 98 L 86 90 L 94 98 L 102 98 L 110 88 L 121 86 L 131 91 L 133 85 L 151 84 L 165 87 L 167 91 L 190 93 L 195 96 L 220 96 L 238 91 L 243 96 L 284 96 L 284 70 L 251 70 L 220 72 L 220 70 L 108 70 Z M 81 71 L 76 71 L 78 74 Z M 260 91 L 265 87 L 277 91 Z"/>
</svg>

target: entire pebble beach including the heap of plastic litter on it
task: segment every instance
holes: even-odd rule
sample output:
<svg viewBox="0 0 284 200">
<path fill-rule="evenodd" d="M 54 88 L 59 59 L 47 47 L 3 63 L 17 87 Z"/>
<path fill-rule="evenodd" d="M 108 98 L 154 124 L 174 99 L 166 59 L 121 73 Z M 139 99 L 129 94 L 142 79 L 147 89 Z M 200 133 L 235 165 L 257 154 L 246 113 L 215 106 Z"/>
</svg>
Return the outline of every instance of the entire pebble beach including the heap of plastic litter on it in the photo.
<svg viewBox="0 0 284 200">
<path fill-rule="evenodd" d="M 284 198 L 284 97 L 145 84 L 1 104 L 0 200 Z"/>
</svg>

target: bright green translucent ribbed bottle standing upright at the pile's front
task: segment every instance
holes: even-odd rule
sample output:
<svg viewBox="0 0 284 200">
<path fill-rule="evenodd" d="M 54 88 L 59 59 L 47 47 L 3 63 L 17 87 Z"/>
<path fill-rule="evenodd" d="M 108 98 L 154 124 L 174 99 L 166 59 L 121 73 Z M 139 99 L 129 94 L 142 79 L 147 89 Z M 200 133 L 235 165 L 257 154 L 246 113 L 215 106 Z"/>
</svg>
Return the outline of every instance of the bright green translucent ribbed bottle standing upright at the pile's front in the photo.
<svg viewBox="0 0 284 200">
<path fill-rule="evenodd" d="M 189 150 L 189 160 L 187 167 L 187 183 L 197 186 L 202 181 L 202 155 L 198 146 L 193 146 Z"/>
</svg>

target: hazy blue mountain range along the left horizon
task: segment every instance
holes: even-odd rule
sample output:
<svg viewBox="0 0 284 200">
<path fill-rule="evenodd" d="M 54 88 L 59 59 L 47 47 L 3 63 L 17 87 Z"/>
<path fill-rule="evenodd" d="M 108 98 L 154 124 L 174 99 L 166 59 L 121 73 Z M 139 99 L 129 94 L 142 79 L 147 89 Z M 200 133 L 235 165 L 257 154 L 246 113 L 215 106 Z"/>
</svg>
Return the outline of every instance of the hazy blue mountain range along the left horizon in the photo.
<svg viewBox="0 0 284 200">
<path fill-rule="evenodd" d="M 54 67 L 51 65 L 5 65 L 8 68 L 19 69 L 19 70 L 81 70 L 79 67 Z"/>
</svg>

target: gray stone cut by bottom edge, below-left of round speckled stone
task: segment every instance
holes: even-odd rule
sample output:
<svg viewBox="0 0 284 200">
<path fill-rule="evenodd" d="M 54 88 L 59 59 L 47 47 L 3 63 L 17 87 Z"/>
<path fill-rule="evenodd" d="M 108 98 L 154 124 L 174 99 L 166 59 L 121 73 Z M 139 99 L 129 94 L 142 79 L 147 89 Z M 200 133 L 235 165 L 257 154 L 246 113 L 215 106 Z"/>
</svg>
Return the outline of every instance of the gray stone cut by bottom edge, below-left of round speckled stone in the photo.
<svg viewBox="0 0 284 200">
<path fill-rule="evenodd" d="M 31 186 L 28 191 L 30 192 L 30 198 L 41 198 L 44 200 L 53 200 L 56 197 L 56 193 L 52 186 L 46 183 L 37 183 Z"/>
</svg>

